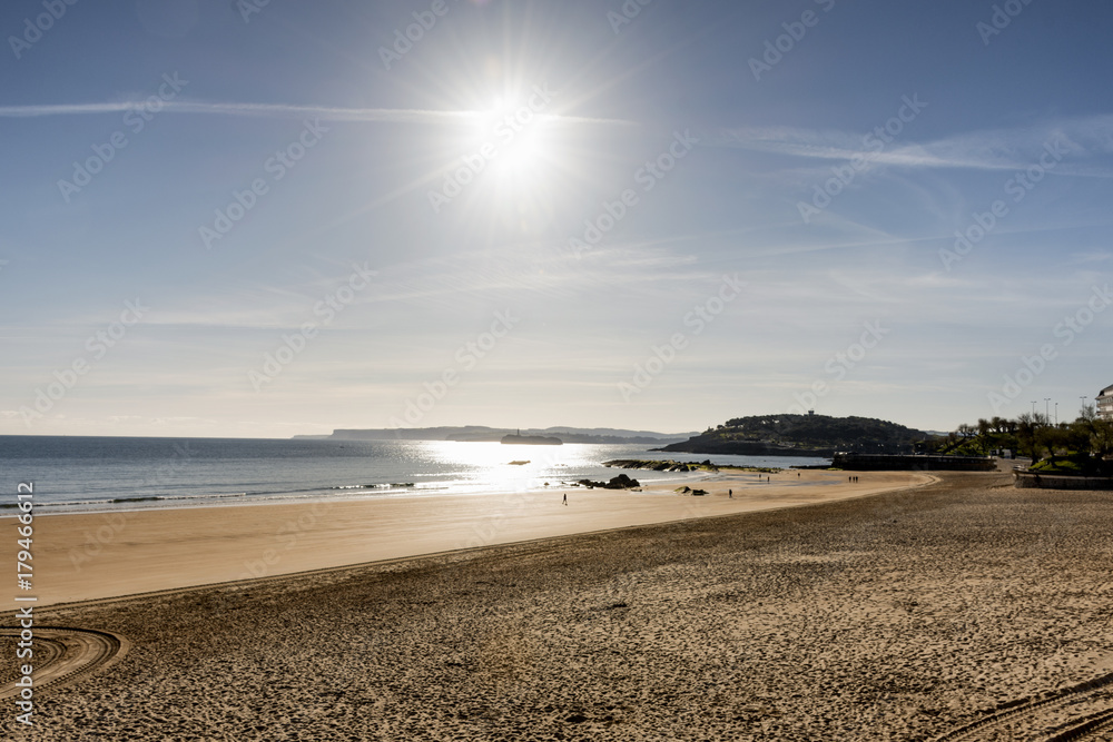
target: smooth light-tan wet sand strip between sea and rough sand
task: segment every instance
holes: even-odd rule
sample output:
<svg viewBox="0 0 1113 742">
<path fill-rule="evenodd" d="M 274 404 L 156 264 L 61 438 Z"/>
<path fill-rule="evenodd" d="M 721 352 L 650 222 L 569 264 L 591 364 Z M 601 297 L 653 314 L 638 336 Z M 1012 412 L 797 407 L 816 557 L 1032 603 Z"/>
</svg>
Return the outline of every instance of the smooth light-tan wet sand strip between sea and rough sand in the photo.
<svg viewBox="0 0 1113 742">
<path fill-rule="evenodd" d="M 749 473 L 686 479 L 708 491 L 699 497 L 678 495 L 670 483 L 641 492 L 550 487 L 496 495 L 43 514 L 36 517 L 36 593 L 43 607 L 118 598 L 796 507 L 934 481 L 924 474 L 875 473 L 848 484 L 841 472 L 792 474 L 771 475 L 769 483 Z M 735 491 L 733 498 L 728 489 Z M 569 506 L 562 505 L 563 493 Z M 0 558 L 9 548 L 0 546 Z"/>
</svg>

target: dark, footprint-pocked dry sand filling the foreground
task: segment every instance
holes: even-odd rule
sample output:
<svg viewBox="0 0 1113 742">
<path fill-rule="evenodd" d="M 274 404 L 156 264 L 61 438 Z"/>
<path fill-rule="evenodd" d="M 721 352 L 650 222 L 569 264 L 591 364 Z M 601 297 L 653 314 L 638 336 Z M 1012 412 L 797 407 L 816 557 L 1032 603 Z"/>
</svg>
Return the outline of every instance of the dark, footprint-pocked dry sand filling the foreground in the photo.
<svg viewBox="0 0 1113 742">
<path fill-rule="evenodd" d="M 6 729 L 36 741 L 718 742 L 930 740 L 999 709 L 1013 715 L 946 739 L 1104 723 L 1110 686 L 1078 684 L 1113 671 L 1113 493 L 940 477 L 43 609 L 43 625 L 132 646 L 43 691 L 32 731 Z M 1031 699 L 1046 703 L 1016 705 Z"/>
</svg>

